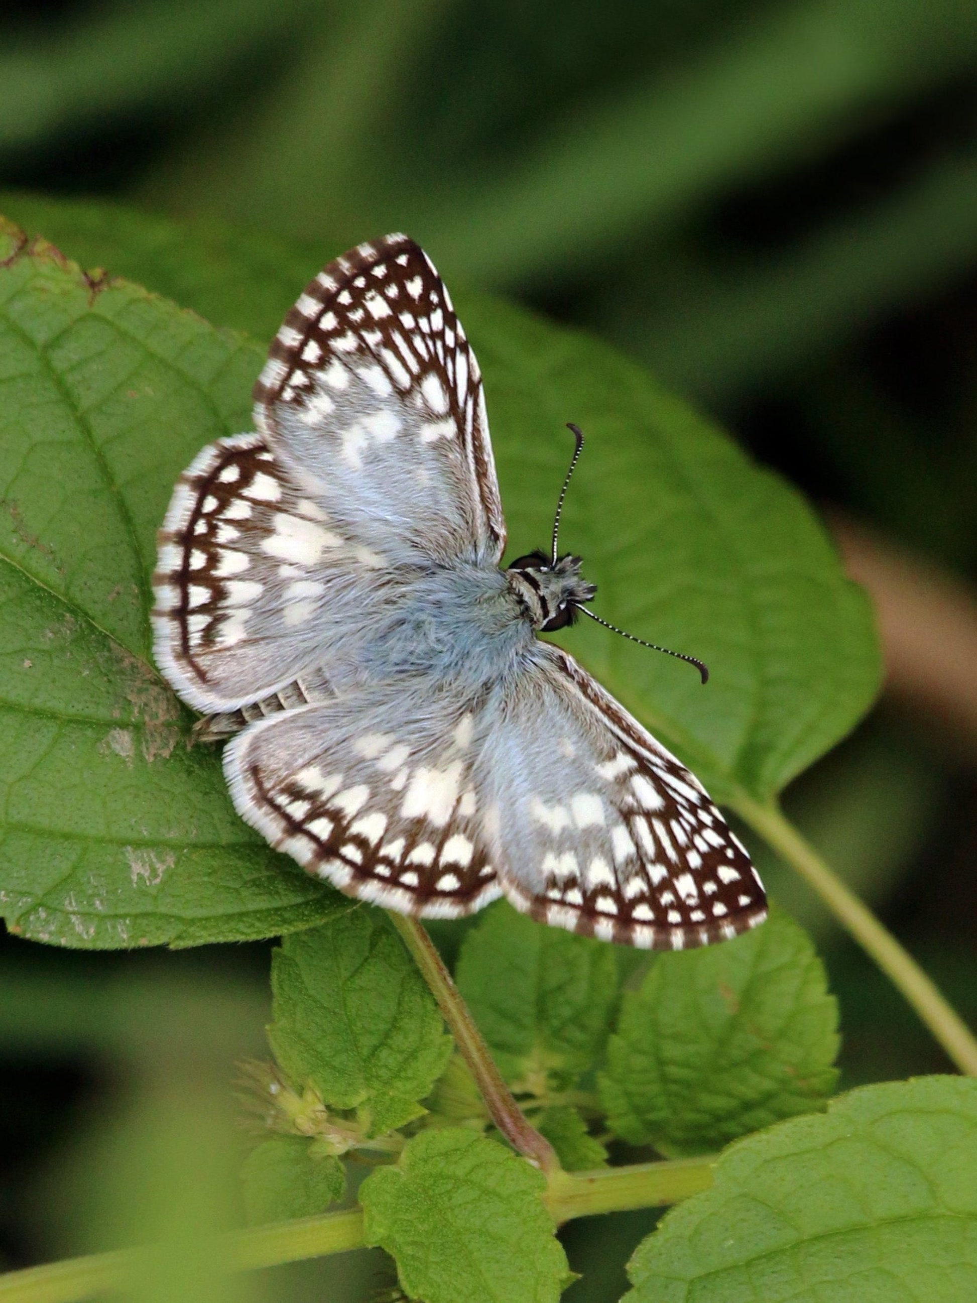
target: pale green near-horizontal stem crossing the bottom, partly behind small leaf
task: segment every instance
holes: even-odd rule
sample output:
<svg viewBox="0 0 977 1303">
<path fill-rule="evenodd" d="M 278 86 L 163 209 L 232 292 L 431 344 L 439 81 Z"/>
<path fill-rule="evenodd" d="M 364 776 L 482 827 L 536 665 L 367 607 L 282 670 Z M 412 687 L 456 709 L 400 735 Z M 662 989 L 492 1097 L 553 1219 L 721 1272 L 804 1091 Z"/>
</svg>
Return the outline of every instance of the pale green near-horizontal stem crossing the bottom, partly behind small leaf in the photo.
<svg viewBox="0 0 977 1303">
<path fill-rule="evenodd" d="M 543 1203 L 558 1224 L 594 1213 L 672 1204 L 713 1184 L 715 1154 L 673 1162 L 641 1162 L 598 1171 L 555 1171 Z M 224 1238 L 224 1260 L 231 1270 L 253 1270 L 298 1263 L 327 1253 L 363 1248 L 360 1208 L 296 1221 L 232 1231 Z M 0 1276 L 1 1303 L 83 1303 L 85 1299 L 125 1289 L 142 1250 L 95 1253 L 63 1263 L 30 1267 Z"/>
</svg>

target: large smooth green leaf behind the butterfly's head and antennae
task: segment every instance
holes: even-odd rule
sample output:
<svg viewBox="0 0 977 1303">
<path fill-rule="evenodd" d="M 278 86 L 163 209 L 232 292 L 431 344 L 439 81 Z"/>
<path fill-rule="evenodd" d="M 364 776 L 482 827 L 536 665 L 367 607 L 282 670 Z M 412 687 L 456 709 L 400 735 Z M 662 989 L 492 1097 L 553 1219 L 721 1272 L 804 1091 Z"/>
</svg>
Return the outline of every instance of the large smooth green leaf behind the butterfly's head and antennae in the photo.
<svg viewBox="0 0 977 1303">
<path fill-rule="evenodd" d="M 181 227 L 23 195 L 9 203 L 31 228 L 47 223 L 68 254 L 77 244 L 90 262 L 119 263 L 258 337 L 274 305 L 284 315 L 301 288 L 288 292 L 272 268 L 304 278 L 315 262 L 307 246 L 218 223 Z M 685 666 L 590 623 L 561 637 L 716 795 L 779 791 L 848 732 L 879 683 L 868 602 L 813 512 L 612 349 L 498 300 L 455 297 L 486 377 L 513 552 L 550 534 L 569 453 L 563 423 L 576 421 L 589 446 L 563 539 L 601 585 L 598 609 L 702 657 L 713 679 L 702 689 Z"/>
</svg>

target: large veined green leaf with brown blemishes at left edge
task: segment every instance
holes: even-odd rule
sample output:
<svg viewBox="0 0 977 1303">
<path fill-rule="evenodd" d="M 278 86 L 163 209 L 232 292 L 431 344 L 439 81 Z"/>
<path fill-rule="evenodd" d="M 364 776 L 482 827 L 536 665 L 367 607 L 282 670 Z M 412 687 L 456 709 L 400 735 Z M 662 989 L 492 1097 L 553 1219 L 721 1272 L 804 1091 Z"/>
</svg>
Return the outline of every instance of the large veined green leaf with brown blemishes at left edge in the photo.
<svg viewBox="0 0 977 1303">
<path fill-rule="evenodd" d="M 102 949 L 315 923 L 340 896 L 241 822 L 149 659 L 173 481 L 248 423 L 261 351 L 17 232 L 0 245 L 4 915 Z"/>
</svg>

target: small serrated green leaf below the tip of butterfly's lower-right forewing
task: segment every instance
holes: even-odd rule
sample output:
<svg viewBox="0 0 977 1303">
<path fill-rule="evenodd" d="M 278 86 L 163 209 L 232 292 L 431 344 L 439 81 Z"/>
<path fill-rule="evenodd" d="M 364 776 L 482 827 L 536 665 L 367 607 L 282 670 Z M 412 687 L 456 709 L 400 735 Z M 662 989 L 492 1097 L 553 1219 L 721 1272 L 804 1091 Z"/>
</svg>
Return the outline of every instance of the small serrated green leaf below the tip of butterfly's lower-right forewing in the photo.
<svg viewBox="0 0 977 1303">
<path fill-rule="evenodd" d="M 838 1079 L 836 1028 L 823 964 L 784 913 L 722 946 L 658 955 L 607 1046 L 608 1124 L 680 1156 L 817 1109 Z"/>
</svg>

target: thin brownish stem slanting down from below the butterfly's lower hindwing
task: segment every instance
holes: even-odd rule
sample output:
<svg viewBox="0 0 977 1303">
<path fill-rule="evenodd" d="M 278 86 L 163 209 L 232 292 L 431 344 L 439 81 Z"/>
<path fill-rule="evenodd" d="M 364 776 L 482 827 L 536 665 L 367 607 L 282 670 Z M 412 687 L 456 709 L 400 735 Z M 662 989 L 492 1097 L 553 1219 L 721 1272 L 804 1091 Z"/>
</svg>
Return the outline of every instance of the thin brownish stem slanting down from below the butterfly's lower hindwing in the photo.
<svg viewBox="0 0 977 1303">
<path fill-rule="evenodd" d="M 550 1174 L 559 1170 L 559 1160 L 550 1141 L 530 1126 L 518 1104 L 495 1066 L 482 1033 L 474 1024 L 461 993 L 444 967 L 434 942 L 417 919 L 388 909 L 387 915 L 400 933 L 404 945 L 414 956 L 423 980 L 438 1001 L 438 1007 L 448 1024 L 455 1044 L 464 1055 L 472 1076 L 481 1091 L 495 1126 L 509 1144 L 531 1164 Z"/>
</svg>

